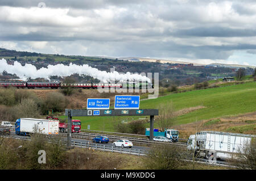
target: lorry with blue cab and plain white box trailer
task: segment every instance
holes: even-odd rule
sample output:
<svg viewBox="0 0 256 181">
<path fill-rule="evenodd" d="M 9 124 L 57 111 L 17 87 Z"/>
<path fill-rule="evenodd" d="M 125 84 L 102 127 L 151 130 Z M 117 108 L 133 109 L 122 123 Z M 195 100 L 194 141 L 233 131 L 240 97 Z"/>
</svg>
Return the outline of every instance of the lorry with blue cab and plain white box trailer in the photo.
<svg viewBox="0 0 256 181">
<path fill-rule="evenodd" d="M 26 135 L 38 132 L 41 134 L 59 134 L 59 120 L 20 118 L 15 123 L 15 133 Z"/>
</svg>

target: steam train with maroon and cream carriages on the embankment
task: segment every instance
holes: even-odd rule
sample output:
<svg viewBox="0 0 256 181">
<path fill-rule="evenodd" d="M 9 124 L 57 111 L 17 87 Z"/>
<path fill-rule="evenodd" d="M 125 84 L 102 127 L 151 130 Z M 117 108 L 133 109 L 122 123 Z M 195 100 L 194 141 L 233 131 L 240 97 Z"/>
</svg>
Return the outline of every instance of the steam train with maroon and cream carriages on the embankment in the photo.
<svg viewBox="0 0 256 181">
<path fill-rule="evenodd" d="M 123 87 L 138 87 L 139 89 L 147 89 L 148 85 L 152 88 L 151 83 L 147 82 L 125 82 L 125 83 L 64 83 L 64 82 L 0 82 L 0 87 L 16 87 L 17 89 L 27 88 L 27 89 L 35 89 L 35 88 L 44 88 L 44 89 L 61 89 L 64 87 L 72 87 L 72 88 L 81 88 L 81 89 L 122 89 Z"/>
</svg>

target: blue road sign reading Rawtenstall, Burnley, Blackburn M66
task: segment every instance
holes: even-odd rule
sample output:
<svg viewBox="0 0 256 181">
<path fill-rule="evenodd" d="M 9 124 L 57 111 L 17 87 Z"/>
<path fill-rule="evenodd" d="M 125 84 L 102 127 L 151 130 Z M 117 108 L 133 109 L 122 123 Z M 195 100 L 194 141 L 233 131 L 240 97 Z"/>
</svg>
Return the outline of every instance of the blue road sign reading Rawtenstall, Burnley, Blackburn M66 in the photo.
<svg viewBox="0 0 256 181">
<path fill-rule="evenodd" d="M 116 95 L 115 110 L 138 110 L 139 95 Z"/>
</svg>

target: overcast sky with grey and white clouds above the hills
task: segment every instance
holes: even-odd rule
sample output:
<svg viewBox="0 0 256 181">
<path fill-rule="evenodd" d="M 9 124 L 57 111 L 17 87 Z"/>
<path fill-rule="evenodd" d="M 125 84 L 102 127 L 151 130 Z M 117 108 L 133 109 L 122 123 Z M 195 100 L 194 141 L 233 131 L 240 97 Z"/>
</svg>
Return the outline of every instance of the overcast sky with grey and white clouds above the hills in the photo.
<svg viewBox="0 0 256 181">
<path fill-rule="evenodd" d="M 256 1 L 0 0 L 0 47 L 256 66 Z"/>
</svg>

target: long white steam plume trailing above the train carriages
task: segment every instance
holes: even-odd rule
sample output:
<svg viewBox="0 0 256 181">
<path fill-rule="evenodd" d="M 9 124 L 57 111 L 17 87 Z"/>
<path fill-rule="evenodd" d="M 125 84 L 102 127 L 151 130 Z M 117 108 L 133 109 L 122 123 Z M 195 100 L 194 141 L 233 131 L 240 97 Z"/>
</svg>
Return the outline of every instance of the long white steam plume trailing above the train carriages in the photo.
<svg viewBox="0 0 256 181">
<path fill-rule="evenodd" d="M 90 75 L 93 78 L 100 79 L 100 81 L 108 82 L 110 81 L 148 81 L 150 79 L 146 76 L 140 74 L 131 74 L 127 72 L 126 74 L 119 74 L 117 71 L 107 72 L 101 71 L 96 68 L 92 68 L 89 65 L 75 65 L 70 63 L 69 66 L 63 64 L 48 65 L 47 68 L 41 68 L 36 70 L 36 67 L 32 64 L 25 64 L 22 66 L 18 61 L 14 62 L 14 65 L 7 64 L 7 61 L 2 58 L 0 60 L 0 73 L 7 71 L 7 73 L 16 74 L 18 77 L 26 81 L 27 78 L 46 78 L 48 79 L 52 75 L 57 75 L 60 77 L 69 76 L 72 74 L 84 74 Z"/>
</svg>

